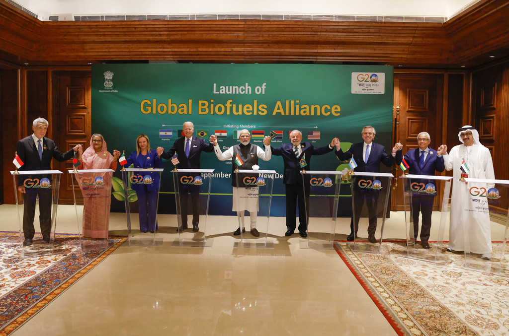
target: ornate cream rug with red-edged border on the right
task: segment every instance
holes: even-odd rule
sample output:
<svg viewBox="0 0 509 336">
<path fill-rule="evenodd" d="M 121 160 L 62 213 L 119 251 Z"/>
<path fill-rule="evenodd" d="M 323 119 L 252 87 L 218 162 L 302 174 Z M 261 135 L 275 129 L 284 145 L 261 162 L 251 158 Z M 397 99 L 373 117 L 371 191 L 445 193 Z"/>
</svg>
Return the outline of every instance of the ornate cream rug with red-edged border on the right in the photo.
<svg viewBox="0 0 509 336">
<path fill-rule="evenodd" d="M 507 267 L 499 276 L 456 266 L 463 254 L 447 253 L 447 263 L 436 264 L 403 257 L 401 242 L 382 247 L 383 253 L 374 254 L 336 243 L 337 253 L 399 335 L 509 334 Z M 500 250 L 501 243 L 493 243 L 494 258 Z"/>
</svg>

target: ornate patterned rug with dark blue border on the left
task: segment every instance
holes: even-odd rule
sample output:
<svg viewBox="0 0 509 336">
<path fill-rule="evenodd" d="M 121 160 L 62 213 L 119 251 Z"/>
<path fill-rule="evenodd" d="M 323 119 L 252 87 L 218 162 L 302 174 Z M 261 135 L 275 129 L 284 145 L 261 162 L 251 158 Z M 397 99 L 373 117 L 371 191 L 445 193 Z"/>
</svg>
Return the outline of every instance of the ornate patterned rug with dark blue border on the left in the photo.
<svg viewBox="0 0 509 336">
<path fill-rule="evenodd" d="M 109 239 L 107 249 L 78 251 L 76 236 L 56 234 L 53 255 L 23 258 L 18 237 L 0 232 L 0 335 L 37 314 L 127 239 Z"/>
</svg>

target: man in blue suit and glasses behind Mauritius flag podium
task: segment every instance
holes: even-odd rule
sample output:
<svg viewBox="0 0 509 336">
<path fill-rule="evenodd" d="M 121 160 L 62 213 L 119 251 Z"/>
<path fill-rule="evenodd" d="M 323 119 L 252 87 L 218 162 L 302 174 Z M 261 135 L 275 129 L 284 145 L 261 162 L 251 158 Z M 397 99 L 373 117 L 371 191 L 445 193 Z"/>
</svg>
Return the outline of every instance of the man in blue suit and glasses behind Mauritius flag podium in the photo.
<svg viewBox="0 0 509 336">
<path fill-rule="evenodd" d="M 409 173 L 414 175 L 435 175 L 435 170 L 442 172 L 445 169 L 444 146 L 440 146 L 439 151 L 430 147 L 431 138 L 427 132 L 420 132 L 417 135 L 417 144 L 419 148 L 410 149 L 405 154 L 406 163 L 410 166 Z M 396 154 L 396 163 L 399 165 L 402 161 L 402 151 L 398 150 Z M 433 183 L 433 180 L 411 179 L 410 182 Z M 435 186 L 436 190 L 436 186 Z M 422 225 L 420 229 L 420 243 L 423 249 L 429 249 L 428 239 L 430 238 L 431 229 L 431 212 L 433 210 L 433 201 L 435 195 L 426 193 L 412 192 L 412 218 L 413 218 L 413 235 L 414 240 L 417 239 L 419 232 L 419 210 L 422 212 Z"/>
</svg>

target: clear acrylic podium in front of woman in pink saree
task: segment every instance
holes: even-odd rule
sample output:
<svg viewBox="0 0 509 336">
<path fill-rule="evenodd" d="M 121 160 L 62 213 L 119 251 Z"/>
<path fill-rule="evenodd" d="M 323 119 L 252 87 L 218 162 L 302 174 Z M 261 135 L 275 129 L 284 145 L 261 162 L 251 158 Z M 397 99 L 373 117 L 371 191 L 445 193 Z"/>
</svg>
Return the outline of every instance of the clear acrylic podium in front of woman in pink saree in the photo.
<svg viewBox="0 0 509 336">
<path fill-rule="evenodd" d="M 106 249 L 109 245 L 107 231 L 113 173 L 112 169 L 69 169 L 81 250 Z"/>
</svg>

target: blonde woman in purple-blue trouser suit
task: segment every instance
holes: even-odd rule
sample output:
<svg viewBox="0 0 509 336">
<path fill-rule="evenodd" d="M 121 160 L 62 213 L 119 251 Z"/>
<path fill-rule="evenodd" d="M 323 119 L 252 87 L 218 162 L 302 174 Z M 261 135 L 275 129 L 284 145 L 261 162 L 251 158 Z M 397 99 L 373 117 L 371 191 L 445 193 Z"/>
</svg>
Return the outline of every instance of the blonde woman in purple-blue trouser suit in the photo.
<svg viewBox="0 0 509 336">
<path fill-rule="evenodd" d="M 134 164 L 134 168 L 161 168 L 162 160 L 155 149 L 150 149 L 149 137 L 140 134 L 136 138 L 136 151 L 127 158 L 126 167 Z M 139 230 L 154 233 L 157 228 L 157 195 L 159 193 L 159 174 L 154 171 L 134 172 L 142 176 L 139 183 L 133 183 L 131 188 L 138 196 Z"/>
</svg>

